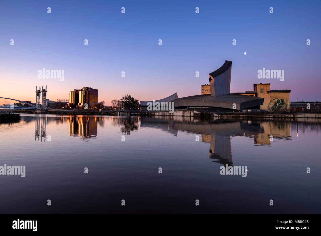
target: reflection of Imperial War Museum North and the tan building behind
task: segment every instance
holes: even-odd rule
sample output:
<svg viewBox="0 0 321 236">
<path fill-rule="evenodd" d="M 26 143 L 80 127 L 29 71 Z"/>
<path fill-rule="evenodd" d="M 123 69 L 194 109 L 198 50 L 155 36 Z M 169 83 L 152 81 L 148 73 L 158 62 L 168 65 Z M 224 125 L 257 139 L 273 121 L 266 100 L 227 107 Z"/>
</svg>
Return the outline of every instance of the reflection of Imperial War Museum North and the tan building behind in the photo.
<svg viewBox="0 0 321 236">
<path fill-rule="evenodd" d="M 291 139 L 290 122 L 247 121 L 214 118 L 200 120 L 194 117 L 142 118 L 141 127 L 153 127 L 169 132 L 177 137 L 178 131 L 193 133 L 208 143 L 209 158 L 225 166 L 233 165 L 231 137 L 253 139 L 255 146 L 271 145 L 273 139 Z"/>
</svg>

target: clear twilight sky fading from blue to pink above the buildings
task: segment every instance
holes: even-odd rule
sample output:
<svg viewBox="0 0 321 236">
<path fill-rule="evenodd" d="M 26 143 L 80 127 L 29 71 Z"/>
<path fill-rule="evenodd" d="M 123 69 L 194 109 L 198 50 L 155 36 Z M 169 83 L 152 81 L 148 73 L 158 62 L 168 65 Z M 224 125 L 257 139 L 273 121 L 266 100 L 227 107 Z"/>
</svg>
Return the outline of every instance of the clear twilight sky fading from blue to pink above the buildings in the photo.
<svg viewBox="0 0 321 236">
<path fill-rule="evenodd" d="M 321 1 L 0 1 L 0 97 L 35 102 L 42 85 L 54 101 L 84 86 L 106 105 L 186 97 L 229 60 L 230 92 L 271 83 L 290 101 L 321 101 L 320 12 Z M 38 78 L 43 68 L 64 80 Z M 263 68 L 284 81 L 258 79 Z"/>
</svg>

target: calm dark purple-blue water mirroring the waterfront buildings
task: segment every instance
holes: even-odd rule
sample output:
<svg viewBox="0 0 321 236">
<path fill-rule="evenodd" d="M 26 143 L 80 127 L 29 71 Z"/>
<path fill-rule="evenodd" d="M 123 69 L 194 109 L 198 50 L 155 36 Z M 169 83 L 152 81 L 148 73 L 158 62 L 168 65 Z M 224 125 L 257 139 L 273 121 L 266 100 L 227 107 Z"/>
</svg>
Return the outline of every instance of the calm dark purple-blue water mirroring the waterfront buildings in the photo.
<svg viewBox="0 0 321 236">
<path fill-rule="evenodd" d="M 26 166 L 0 175 L 0 212 L 320 214 L 320 131 L 315 119 L 22 115 L 0 124 L 0 165 Z M 247 177 L 221 175 L 226 164 Z"/>
</svg>

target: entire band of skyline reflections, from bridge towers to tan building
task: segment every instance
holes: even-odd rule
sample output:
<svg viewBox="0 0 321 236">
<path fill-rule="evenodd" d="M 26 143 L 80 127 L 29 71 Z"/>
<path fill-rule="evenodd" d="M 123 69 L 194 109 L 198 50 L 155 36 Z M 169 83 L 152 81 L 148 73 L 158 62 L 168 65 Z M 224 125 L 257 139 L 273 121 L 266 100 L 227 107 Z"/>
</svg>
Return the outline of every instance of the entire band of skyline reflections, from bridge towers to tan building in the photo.
<svg viewBox="0 0 321 236">
<path fill-rule="evenodd" d="M 231 120 L 214 118 L 201 120 L 194 117 L 96 117 L 96 116 L 68 116 L 46 117 L 35 119 L 35 140 L 46 141 L 47 122 L 68 122 L 69 135 L 80 137 L 82 140 L 97 138 L 98 125 L 110 124 L 119 127 L 123 134 L 129 135 L 141 128 L 156 128 L 177 137 L 178 132 L 188 132 L 199 135 L 204 143 L 209 144 L 209 158 L 222 165 L 233 165 L 231 137 L 246 137 L 253 139 L 255 146 L 272 145 L 273 139 L 291 139 L 293 122 L 261 121 L 261 120 Z M 298 124 L 296 125 L 297 129 Z M 41 129 L 40 129 L 41 127 Z"/>
</svg>

